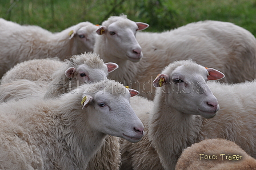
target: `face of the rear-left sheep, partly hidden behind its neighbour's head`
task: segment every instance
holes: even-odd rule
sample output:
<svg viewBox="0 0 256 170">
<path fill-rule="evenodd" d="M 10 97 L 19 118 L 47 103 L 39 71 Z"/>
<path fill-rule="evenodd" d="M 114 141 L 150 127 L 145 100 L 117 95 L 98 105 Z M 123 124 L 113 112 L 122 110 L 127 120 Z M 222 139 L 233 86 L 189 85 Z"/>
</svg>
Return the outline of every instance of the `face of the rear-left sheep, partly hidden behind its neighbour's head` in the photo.
<svg viewBox="0 0 256 170">
<path fill-rule="evenodd" d="M 73 55 L 93 51 L 96 38 L 98 37 L 98 34 L 95 33 L 97 29 L 98 26 L 90 22 L 81 22 L 75 26 L 74 30 L 70 31 L 69 39 L 74 38 L 74 47 L 76 47 L 76 49 L 73 49 Z"/>
</svg>

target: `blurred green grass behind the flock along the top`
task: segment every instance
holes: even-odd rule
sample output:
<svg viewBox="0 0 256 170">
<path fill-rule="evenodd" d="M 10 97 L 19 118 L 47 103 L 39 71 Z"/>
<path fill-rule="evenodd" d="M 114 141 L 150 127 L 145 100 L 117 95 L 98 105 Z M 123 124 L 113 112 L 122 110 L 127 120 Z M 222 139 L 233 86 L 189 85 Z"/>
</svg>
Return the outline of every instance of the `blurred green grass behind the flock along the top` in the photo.
<svg viewBox="0 0 256 170">
<path fill-rule="evenodd" d="M 256 0 L 0 0 L 0 17 L 59 32 L 126 14 L 161 32 L 206 19 L 235 23 L 256 35 Z"/>
</svg>

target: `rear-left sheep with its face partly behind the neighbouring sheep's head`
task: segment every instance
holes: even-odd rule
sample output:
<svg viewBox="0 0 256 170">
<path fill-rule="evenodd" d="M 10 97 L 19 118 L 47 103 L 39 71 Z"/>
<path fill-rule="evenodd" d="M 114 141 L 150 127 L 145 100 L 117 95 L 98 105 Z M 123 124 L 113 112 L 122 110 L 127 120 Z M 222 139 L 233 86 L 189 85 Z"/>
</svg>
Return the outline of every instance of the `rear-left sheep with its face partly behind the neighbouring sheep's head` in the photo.
<svg viewBox="0 0 256 170">
<path fill-rule="evenodd" d="M 64 60 L 70 55 L 93 51 L 97 28 L 90 22 L 81 22 L 51 33 L 39 26 L 22 26 L 0 18 L 0 78 L 25 60 L 54 56 Z"/>
</svg>

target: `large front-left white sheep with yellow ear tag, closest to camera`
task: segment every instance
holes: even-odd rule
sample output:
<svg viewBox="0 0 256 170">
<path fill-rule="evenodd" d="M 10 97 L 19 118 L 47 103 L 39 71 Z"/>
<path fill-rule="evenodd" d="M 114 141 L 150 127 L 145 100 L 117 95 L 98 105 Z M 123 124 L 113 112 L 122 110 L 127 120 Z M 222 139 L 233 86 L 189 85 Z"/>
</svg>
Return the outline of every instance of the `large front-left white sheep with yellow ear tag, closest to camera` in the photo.
<svg viewBox="0 0 256 170">
<path fill-rule="evenodd" d="M 85 169 L 106 134 L 139 141 L 143 125 L 129 104 L 137 94 L 105 80 L 58 99 L 2 103 L 0 167 Z"/>
</svg>

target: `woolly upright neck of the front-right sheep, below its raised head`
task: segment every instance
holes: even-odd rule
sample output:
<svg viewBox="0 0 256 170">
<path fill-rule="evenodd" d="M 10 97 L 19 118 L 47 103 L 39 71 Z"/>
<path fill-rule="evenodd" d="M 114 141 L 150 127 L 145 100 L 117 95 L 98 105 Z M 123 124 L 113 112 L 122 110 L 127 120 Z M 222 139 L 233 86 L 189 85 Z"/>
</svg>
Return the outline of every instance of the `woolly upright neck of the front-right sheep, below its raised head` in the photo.
<svg viewBox="0 0 256 170">
<path fill-rule="evenodd" d="M 150 116 L 149 138 L 163 167 L 174 169 L 183 149 L 201 139 L 202 118 L 175 110 L 167 102 L 168 95 L 171 94 L 162 93 L 155 96 L 155 109 Z"/>
</svg>

